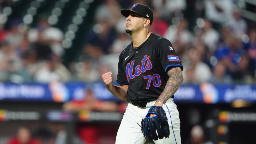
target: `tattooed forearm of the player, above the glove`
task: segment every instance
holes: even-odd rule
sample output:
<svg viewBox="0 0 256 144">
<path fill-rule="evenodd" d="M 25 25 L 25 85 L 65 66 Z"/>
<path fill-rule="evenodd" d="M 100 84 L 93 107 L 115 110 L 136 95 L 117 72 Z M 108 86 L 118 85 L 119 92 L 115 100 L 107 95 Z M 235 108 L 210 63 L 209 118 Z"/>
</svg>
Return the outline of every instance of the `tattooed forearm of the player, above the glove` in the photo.
<svg viewBox="0 0 256 144">
<path fill-rule="evenodd" d="M 180 87 L 181 82 L 183 81 L 182 71 L 180 67 L 174 67 L 167 73 L 169 79 L 166 83 L 164 91 L 161 93 L 159 98 L 156 100 L 158 102 L 165 103 Z"/>
</svg>

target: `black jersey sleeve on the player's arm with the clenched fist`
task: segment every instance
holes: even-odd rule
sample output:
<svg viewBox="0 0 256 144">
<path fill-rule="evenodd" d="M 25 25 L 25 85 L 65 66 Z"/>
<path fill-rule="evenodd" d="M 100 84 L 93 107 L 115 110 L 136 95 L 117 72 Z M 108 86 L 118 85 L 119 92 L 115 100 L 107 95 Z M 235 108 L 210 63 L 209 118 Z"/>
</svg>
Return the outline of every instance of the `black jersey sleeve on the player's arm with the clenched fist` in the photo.
<svg viewBox="0 0 256 144">
<path fill-rule="evenodd" d="M 123 70 L 123 58 L 121 56 L 122 54 L 119 55 L 119 62 L 118 62 L 118 73 L 117 73 L 117 80 L 116 82 L 118 84 L 124 84 L 124 85 L 129 85 L 127 79 L 126 79 L 126 73 Z"/>
</svg>

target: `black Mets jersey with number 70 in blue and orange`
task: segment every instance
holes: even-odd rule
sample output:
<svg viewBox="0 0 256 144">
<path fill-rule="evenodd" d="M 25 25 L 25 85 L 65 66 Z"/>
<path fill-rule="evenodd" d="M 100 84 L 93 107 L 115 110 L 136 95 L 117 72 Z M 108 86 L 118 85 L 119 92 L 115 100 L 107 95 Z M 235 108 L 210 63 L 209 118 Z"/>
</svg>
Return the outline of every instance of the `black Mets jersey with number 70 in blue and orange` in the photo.
<svg viewBox="0 0 256 144">
<path fill-rule="evenodd" d="M 138 48 L 130 43 L 119 55 L 116 82 L 129 85 L 128 102 L 157 100 L 165 88 L 168 70 L 180 66 L 180 58 L 169 40 L 151 33 Z"/>
</svg>

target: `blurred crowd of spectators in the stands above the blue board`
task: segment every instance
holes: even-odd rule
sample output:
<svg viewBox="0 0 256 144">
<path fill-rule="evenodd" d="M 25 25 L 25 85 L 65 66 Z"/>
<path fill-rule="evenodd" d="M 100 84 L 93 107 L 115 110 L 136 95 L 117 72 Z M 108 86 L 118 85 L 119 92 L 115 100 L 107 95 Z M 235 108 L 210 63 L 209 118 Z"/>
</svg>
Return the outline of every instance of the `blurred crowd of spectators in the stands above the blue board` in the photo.
<svg viewBox="0 0 256 144">
<path fill-rule="evenodd" d="M 15 1 L 1 1 L 1 12 L 8 13 Z M 152 31 L 173 44 L 184 66 L 183 84 L 256 82 L 256 26 L 241 17 L 245 3 L 238 0 L 103 0 L 94 21 L 87 22 L 92 26 L 82 48 L 74 48 L 80 50 L 76 59 L 65 63 L 65 34 L 49 15 L 39 15 L 34 26 L 25 17 L 8 20 L 8 27 L 1 15 L 0 81 L 94 82 L 107 71 L 116 76 L 118 55 L 131 42 L 120 10 L 133 3 L 154 11 Z"/>
</svg>

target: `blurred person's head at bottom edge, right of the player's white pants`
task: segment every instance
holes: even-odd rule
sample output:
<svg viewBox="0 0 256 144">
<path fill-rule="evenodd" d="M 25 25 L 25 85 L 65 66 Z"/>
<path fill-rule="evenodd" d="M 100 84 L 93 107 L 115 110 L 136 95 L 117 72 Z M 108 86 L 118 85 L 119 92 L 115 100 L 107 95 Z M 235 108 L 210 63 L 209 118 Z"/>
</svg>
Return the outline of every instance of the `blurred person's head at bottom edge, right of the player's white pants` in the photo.
<svg viewBox="0 0 256 144">
<path fill-rule="evenodd" d="M 203 128 L 199 125 L 192 127 L 190 137 L 190 142 L 186 144 L 213 144 L 213 142 L 206 139 Z"/>
</svg>

